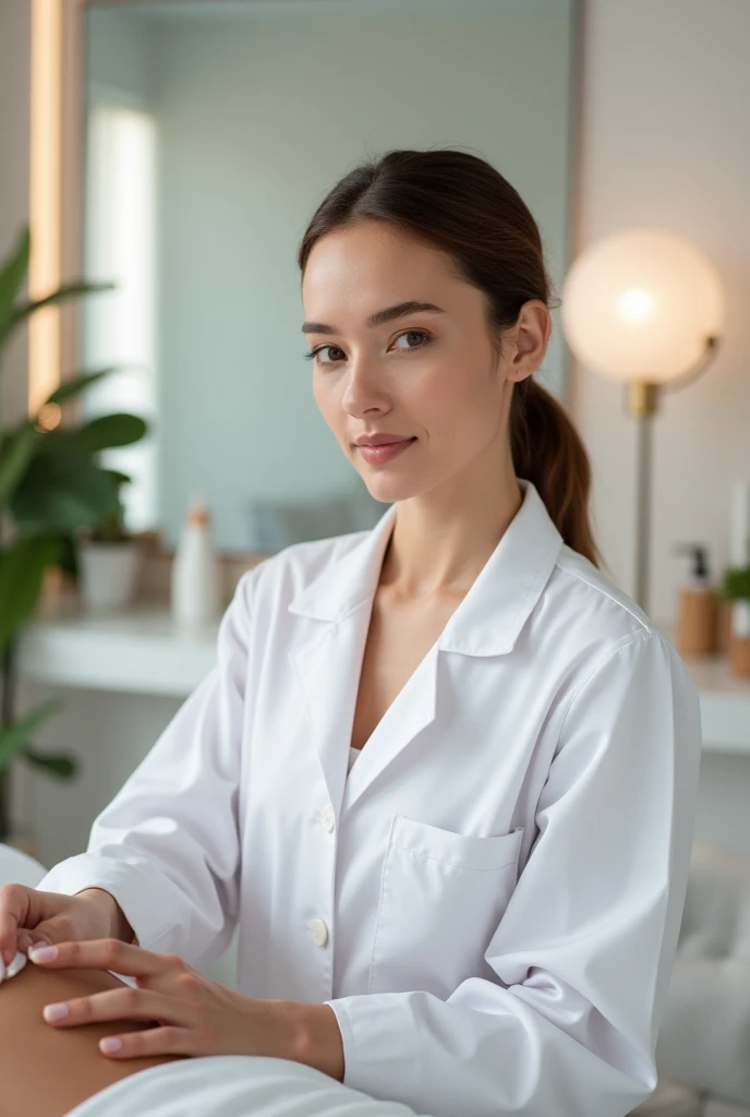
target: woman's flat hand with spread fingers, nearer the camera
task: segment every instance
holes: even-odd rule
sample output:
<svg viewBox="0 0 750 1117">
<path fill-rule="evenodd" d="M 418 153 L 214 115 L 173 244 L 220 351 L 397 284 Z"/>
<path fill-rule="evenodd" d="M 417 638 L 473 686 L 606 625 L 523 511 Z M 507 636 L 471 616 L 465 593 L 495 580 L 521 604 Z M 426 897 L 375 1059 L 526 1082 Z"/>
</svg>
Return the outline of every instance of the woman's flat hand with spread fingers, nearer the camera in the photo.
<svg viewBox="0 0 750 1117">
<path fill-rule="evenodd" d="M 56 951 L 55 957 L 45 956 L 50 949 Z M 154 1028 L 102 1040 L 104 1054 L 116 1059 L 155 1054 L 282 1057 L 280 1020 L 273 1008 L 277 1002 L 243 996 L 176 954 L 154 954 L 117 938 L 98 938 L 44 947 L 30 953 L 29 961 L 49 970 L 76 966 L 135 977 L 137 989 L 124 985 L 66 1002 L 65 1015 L 54 1016 L 50 1009 L 57 1005 L 44 1010 L 45 1020 L 55 1028 L 123 1018 L 154 1021 Z"/>
</svg>

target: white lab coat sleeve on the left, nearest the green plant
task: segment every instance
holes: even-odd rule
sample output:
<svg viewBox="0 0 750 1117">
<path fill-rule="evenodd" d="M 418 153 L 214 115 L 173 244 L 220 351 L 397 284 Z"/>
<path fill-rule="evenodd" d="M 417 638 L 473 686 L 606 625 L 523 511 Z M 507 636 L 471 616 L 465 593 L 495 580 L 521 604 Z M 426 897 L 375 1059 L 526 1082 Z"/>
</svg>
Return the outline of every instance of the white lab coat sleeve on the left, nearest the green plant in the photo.
<svg viewBox="0 0 750 1117">
<path fill-rule="evenodd" d="M 214 667 L 94 820 L 86 852 L 37 885 L 106 889 L 140 946 L 193 964 L 218 957 L 237 923 L 246 632 L 258 569 L 240 577 L 221 618 Z"/>
</svg>

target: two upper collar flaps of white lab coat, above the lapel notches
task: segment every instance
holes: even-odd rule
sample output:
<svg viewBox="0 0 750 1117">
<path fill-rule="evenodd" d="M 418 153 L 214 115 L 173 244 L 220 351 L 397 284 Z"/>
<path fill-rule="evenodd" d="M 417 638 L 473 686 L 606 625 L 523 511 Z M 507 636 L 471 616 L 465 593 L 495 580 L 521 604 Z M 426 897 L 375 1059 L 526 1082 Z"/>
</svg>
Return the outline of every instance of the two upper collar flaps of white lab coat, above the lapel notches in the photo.
<svg viewBox="0 0 750 1117">
<path fill-rule="evenodd" d="M 441 651 L 468 656 L 511 651 L 552 572 L 562 536 L 533 483 L 522 477 L 516 479 L 523 503 L 443 629 L 438 641 Z M 337 623 L 371 601 L 396 508 L 397 505 L 391 505 L 362 542 L 298 593 L 289 611 Z"/>
</svg>

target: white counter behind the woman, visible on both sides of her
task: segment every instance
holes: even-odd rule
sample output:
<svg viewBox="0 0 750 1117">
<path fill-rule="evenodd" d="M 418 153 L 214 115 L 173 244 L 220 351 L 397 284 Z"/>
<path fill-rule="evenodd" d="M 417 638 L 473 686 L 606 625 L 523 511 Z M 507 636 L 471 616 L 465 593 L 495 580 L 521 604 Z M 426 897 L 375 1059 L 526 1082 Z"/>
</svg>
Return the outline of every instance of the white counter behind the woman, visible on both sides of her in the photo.
<svg viewBox="0 0 750 1117">
<path fill-rule="evenodd" d="M 19 671 L 35 682 L 186 697 L 215 662 L 218 630 L 219 619 L 180 629 L 161 603 L 96 615 L 64 601 L 27 626 Z M 750 755 L 750 678 L 733 676 L 723 658 L 685 662 L 701 696 L 704 750 Z"/>
</svg>

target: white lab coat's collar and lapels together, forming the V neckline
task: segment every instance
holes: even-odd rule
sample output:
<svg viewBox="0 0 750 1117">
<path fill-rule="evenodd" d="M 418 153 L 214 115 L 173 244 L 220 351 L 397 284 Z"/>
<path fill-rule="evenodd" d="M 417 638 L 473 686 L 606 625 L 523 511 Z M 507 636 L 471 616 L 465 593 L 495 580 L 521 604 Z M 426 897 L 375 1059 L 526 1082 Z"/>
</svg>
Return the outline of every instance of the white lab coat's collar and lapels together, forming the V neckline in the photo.
<svg viewBox="0 0 750 1117">
<path fill-rule="evenodd" d="M 347 780 L 352 726 L 372 603 L 396 516 L 378 523 L 289 605 L 325 622 L 289 659 L 307 706 L 330 802 L 348 810 L 438 714 L 438 670 L 448 652 L 501 656 L 512 650 L 557 562 L 562 537 L 533 484 L 517 478 L 523 503 L 471 589 L 386 710 Z M 349 542 L 348 537 L 344 540 Z M 450 660 L 450 657 L 449 657 Z"/>
</svg>

